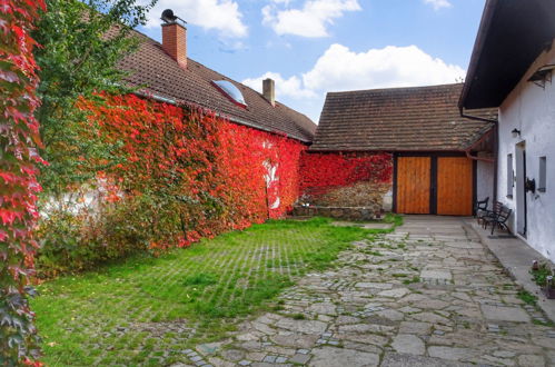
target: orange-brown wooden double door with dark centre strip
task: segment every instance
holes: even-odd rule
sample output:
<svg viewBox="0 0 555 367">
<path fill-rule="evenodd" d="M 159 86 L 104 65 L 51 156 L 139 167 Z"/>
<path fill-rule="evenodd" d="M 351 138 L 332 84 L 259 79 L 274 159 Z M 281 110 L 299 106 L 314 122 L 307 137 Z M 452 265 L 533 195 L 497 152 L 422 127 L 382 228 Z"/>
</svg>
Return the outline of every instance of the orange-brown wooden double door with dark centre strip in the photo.
<svg viewBox="0 0 555 367">
<path fill-rule="evenodd" d="M 397 157 L 396 211 L 472 216 L 474 161 L 466 157 Z"/>
</svg>

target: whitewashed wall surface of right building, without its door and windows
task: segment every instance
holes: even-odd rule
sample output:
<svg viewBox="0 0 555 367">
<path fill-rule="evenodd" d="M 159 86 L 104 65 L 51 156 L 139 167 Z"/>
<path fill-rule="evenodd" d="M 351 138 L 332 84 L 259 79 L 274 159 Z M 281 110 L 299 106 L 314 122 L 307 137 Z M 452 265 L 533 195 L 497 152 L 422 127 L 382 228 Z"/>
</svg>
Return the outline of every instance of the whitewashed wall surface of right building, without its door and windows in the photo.
<svg viewBox="0 0 555 367">
<path fill-rule="evenodd" d="M 515 166 L 515 145 L 526 142 L 526 176 L 538 182 L 539 157 L 547 157 L 546 192 L 526 194 L 527 237 L 529 246 L 555 261 L 555 75 L 553 83 L 545 89 L 527 81 L 539 67 L 555 63 L 555 41 L 551 51 L 541 54 L 531 66 L 517 87 L 505 99 L 499 110 L 499 151 L 498 151 L 498 199 L 516 211 L 517 195 L 507 194 L 507 155 L 513 153 Z M 513 129 L 522 131 L 513 138 Z M 516 234 L 516 214 L 511 218 L 511 227 Z"/>
</svg>

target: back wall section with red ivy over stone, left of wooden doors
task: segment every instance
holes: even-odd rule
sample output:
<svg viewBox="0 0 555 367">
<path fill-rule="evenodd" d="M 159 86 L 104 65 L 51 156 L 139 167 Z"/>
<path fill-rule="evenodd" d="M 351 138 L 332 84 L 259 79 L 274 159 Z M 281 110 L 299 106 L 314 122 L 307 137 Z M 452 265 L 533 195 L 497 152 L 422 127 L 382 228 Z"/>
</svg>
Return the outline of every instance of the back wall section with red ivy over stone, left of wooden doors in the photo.
<svg viewBox="0 0 555 367">
<path fill-rule="evenodd" d="M 304 200 L 329 206 L 365 206 L 384 196 L 393 182 L 390 153 L 304 152 Z"/>
</svg>

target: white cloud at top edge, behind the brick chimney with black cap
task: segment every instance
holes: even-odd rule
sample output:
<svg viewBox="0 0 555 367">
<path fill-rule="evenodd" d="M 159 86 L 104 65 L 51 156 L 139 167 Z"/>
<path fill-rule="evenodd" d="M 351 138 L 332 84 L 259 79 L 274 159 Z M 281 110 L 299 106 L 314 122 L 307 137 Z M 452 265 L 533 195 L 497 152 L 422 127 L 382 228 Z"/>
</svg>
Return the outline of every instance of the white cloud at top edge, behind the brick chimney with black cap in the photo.
<svg viewBox="0 0 555 367">
<path fill-rule="evenodd" d="M 160 26 L 165 9 L 174 10 L 188 23 L 217 30 L 226 38 L 245 37 L 248 32 L 239 4 L 234 0 L 159 0 L 149 13 L 147 28 Z"/>
</svg>

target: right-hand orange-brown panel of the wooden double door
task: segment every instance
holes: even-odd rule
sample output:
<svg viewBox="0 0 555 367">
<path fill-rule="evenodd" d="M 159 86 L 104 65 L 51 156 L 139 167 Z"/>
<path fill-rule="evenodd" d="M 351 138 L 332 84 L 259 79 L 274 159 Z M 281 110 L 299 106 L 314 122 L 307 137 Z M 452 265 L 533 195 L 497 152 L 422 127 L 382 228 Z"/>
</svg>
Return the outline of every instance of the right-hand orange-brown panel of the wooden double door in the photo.
<svg viewBox="0 0 555 367">
<path fill-rule="evenodd" d="M 472 216 L 473 161 L 465 157 L 437 159 L 437 214 Z"/>
</svg>

